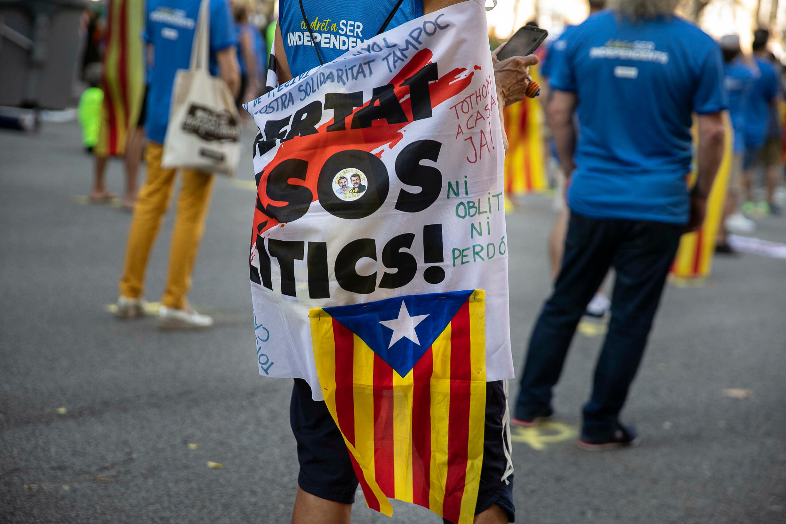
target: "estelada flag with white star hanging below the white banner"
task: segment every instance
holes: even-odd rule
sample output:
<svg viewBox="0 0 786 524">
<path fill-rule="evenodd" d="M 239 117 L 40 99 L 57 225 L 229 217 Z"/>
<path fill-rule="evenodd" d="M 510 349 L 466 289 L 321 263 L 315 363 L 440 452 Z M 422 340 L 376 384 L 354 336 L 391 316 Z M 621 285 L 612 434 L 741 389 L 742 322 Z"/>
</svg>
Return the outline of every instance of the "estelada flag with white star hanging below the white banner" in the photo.
<svg viewBox="0 0 786 524">
<path fill-rule="evenodd" d="M 472 522 L 486 409 L 484 291 L 310 310 L 322 394 L 369 508 Z M 450 457 L 450 459 L 449 459 Z"/>
</svg>

